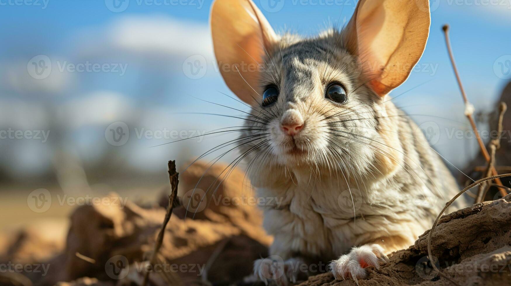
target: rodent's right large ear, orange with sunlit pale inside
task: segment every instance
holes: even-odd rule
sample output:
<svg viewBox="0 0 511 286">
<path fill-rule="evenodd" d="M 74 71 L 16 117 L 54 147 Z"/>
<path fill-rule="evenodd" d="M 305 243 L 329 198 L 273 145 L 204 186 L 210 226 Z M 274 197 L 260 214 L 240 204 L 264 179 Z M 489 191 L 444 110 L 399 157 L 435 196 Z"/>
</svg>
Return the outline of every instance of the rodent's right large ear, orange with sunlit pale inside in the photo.
<svg viewBox="0 0 511 286">
<path fill-rule="evenodd" d="M 429 26 L 428 0 L 360 0 L 343 39 L 359 57 L 369 86 L 385 96 L 421 58 Z"/>
</svg>

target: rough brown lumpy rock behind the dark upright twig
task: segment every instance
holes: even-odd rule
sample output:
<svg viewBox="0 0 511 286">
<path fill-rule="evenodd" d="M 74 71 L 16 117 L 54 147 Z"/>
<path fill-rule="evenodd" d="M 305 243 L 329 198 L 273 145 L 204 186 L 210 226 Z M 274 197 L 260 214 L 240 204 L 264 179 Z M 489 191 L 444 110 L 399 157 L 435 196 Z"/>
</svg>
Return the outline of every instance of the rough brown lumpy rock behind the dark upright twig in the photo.
<svg viewBox="0 0 511 286">
<path fill-rule="evenodd" d="M 207 167 L 194 164 L 180 175 L 179 194 L 190 196 L 189 190 L 201 177 L 197 187 L 207 190 L 225 167 L 218 164 L 202 176 Z M 227 181 L 217 180 L 215 195 L 207 192 L 203 200 L 207 204 L 195 213 L 187 213 L 185 205 L 174 208 L 159 261 L 150 275 L 154 285 L 168 279 L 189 285 L 206 274 L 215 283 L 240 280 L 250 274 L 253 260 L 267 255 L 271 237 L 262 229 L 260 211 L 254 205 L 236 203 L 241 200 L 240 190 L 245 189 L 243 175 L 235 169 Z M 119 197 L 110 194 L 106 199 L 121 201 Z M 54 272 L 39 283 L 54 285 L 84 276 L 119 285 L 142 281 L 164 217 L 163 207 L 142 208 L 130 201 L 78 207 L 71 215 L 61 260 L 54 261 Z"/>
</svg>

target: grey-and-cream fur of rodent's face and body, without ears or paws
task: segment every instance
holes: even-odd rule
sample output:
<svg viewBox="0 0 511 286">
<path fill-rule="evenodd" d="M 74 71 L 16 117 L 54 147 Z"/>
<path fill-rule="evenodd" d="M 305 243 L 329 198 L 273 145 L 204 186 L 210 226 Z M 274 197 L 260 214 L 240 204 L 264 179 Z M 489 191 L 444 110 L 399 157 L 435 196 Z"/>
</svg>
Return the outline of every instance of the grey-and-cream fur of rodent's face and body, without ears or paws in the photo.
<svg viewBox="0 0 511 286">
<path fill-rule="evenodd" d="M 253 130 L 240 137 L 266 135 L 240 140 L 240 149 L 258 195 L 283 198 L 277 208 L 264 207 L 264 227 L 274 236 L 270 255 L 326 263 L 368 243 L 388 253 L 431 227 L 457 185 L 417 126 L 389 96 L 366 86 L 340 32 L 284 35 L 262 67 L 253 88 L 263 94 L 275 85 L 280 95 L 252 108 L 246 125 Z M 325 99 L 331 82 L 345 87 L 345 104 Z M 305 121 L 294 138 L 280 126 L 289 110 Z M 355 211 L 343 203 L 346 194 L 361 201 Z"/>
</svg>

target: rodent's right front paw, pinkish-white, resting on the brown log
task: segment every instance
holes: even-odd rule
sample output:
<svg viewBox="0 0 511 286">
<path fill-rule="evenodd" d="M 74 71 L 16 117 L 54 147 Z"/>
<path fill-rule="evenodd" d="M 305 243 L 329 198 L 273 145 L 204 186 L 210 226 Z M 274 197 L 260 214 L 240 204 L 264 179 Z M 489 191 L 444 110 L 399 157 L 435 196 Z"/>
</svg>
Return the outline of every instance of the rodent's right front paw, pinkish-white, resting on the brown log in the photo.
<svg viewBox="0 0 511 286">
<path fill-rule="evenodd" d="M 350 253 L 339 256 L 337 260 L 332 261 L 329 268 L 335 279 L 352 278 L 358 285 L 358 279 L 364 279 L 367 276 L 366 267 L 373 266 L 378 269 L 380 261 L 385 263 L 387 260 L 388 257 L 380 245 L 363 245 L 354 247 Z"/>
</svg>

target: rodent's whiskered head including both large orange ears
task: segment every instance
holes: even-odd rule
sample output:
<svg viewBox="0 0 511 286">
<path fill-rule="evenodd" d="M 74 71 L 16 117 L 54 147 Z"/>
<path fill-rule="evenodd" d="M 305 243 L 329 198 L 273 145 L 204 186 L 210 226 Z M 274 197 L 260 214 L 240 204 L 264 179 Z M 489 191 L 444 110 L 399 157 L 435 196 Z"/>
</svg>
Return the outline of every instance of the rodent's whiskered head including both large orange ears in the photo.
<svg viewBox="0 0 511 286">
<path fill-rule="evenodd" d="M 424 51 L 428 7 L 428 0 L 360 0 L 343 30 L 300 38 L 277 36 L 250 0 L 216 0 L 217 62 L 229 88 L 252 108 L 239 141 L 243 156 L 259 171 L 351 175 L 381 165 L 379 157 L 392 161 L 388 146 L 397 135 L 390 118 L 397 110 L 387 94 Z"/>
</svg>

